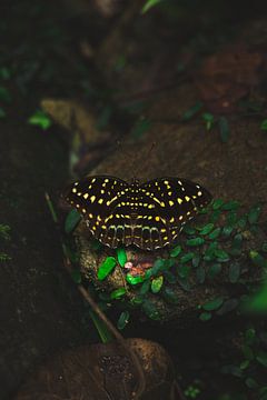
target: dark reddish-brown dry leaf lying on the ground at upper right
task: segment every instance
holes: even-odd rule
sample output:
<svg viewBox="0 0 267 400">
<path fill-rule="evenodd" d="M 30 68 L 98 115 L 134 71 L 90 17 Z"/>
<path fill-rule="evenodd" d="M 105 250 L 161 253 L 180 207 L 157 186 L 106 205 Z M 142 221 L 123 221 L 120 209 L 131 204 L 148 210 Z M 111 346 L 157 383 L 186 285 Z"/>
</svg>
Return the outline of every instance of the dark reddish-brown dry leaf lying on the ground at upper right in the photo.
<svg viewBox="0 0 267 400">
<path fill-rule="evenodd" d="M 263 56 L 243 46 L 208 57 L 195 74 L 195 81 L 209 110 L 235 111 L 237 101 L 259 83 L 261 66 Z"/>
</svg>

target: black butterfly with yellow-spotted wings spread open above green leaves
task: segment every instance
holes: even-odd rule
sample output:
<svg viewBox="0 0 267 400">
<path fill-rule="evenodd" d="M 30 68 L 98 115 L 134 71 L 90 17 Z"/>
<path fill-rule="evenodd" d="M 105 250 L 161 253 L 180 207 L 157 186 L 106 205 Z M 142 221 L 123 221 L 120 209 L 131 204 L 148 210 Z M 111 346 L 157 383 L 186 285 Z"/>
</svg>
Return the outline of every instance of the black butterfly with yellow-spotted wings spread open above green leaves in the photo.
<svg viewBox="0 0 267 400">
<path fill-rule="evenodd" d="M 135 244 L 144 250 L 171 243 L 184 224 L 211 201 L 200 184 L 169 177 L 128 183 L 109 176 L 88 176 L 70 184 L 65 197 L 101 243 L 110 248 Z"/>
</svg>

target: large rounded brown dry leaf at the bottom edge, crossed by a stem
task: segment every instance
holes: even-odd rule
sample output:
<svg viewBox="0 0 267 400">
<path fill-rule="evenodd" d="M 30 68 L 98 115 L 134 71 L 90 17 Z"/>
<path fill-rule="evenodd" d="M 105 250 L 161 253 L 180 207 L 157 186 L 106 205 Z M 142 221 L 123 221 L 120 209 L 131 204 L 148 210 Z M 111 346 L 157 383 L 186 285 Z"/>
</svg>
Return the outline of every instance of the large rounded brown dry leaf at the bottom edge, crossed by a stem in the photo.
<svg viewBox="0 0 267 400">
<path fill-rule="evenodd" d="M 50 359 L 21 388 L 14 400 L 182 400 L 167 352 L 144 339 L 85 346 Z M 139 360 L 145 390 L 130 352 Z"/>
</svg>

